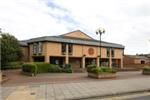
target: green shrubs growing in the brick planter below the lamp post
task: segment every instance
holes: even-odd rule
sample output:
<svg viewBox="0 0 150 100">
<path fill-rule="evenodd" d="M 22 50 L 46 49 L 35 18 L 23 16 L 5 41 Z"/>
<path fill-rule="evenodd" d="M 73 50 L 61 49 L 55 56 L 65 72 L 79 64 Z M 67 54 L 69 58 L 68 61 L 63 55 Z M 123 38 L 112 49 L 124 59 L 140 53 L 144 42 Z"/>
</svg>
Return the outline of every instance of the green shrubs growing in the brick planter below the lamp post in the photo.
<svg viewBox="0 0 150 100">
<path fill-rule="evenodd" d="M 96 65 L 89 65 L 87 67 L 87 72 L 90 73 L 116 73 L 116 70 L 110 68 L 110 67 L 97 67 Z"/>
</svg>

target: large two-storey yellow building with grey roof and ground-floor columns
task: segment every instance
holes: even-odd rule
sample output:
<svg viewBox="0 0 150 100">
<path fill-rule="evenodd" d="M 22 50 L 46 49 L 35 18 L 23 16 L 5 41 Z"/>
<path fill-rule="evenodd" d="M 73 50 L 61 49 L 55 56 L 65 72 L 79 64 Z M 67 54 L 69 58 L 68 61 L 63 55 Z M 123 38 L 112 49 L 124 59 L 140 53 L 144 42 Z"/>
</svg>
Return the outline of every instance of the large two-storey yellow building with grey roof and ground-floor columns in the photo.
<svg viewBox="0 0 150 100">
<path fill-rule="evenodd" d="M 71 64 L 73 69 L 84 69 L 89 64 L 99 66 L 99 41 L 80 30 L 59 36 L 44 36 L 20 42 L 24 61 L 41 61 L 51 64 Z M 101 43 L 101 64 L 123 67 L 124 46 Z"/>
</svg>

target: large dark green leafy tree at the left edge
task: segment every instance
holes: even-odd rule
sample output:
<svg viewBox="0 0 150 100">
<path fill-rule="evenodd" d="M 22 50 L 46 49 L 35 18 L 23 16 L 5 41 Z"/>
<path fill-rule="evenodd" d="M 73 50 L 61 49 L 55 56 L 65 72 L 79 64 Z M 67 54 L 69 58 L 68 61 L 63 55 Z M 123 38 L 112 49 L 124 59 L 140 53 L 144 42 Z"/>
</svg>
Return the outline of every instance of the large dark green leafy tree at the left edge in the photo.
<svg viewBox="0 0 150 100">
<path fill-rule="evenodd" d="M 22 52 L 19 41 L 9 33 L 0 32 L 1 43 L 1 68 L 4 69 L 6 64 L 12 61 L 19 61 Z"/>
</svg>

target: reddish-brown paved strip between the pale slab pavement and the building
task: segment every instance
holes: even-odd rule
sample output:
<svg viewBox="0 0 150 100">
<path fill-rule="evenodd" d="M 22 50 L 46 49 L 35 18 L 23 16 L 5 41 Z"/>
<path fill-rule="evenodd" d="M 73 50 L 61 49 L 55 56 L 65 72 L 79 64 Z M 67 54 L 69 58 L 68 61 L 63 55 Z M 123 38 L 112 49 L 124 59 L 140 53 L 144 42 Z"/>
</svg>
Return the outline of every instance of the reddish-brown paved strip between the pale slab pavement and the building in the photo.
<svg viewBox="0 0 150 100">
<path fill-rule="evenodd" d="M 3 83 L 2 86 L 29 85 L 34 83 L 92 82 L 149 77 L 142 75 L 141 71 L 117 72 L 117 78 L 115 79 L 93 79 L 87 77 L 87 73 L 45 73 L 38 74 L 35 77 L 22 75 L 21 70 L 7 70 L 3 71 L 3 73 L 7 75 L 9 80 Z"/>
</svg>

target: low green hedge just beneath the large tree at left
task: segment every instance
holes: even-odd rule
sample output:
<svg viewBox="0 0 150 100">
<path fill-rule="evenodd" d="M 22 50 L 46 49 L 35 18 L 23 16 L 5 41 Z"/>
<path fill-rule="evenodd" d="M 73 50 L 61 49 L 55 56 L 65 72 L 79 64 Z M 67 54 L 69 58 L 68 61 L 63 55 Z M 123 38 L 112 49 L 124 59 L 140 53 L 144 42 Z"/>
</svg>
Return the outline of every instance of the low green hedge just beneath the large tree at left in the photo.
<svg viewBox="0 0 150 100">
<path fill-rule="evenodd" d="M 22 67 L 22 62 L 9 62 L 5 66 L 5 69 L 19 69 Z"/>
</svg>

